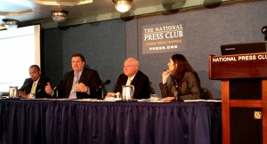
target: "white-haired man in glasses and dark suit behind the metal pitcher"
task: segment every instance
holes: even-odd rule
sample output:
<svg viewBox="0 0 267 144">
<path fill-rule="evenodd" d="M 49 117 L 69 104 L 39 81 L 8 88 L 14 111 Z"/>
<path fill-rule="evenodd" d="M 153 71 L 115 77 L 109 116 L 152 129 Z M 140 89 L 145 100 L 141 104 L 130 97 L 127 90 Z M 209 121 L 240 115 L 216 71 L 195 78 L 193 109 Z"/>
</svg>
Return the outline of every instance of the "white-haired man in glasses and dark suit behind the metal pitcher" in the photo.
<svg viewBox="0 0 267 144">
<path fill-rule="evenodd" d="M 122 93 L 122 85 L 134 85 L 134 99 L 150 99 L 149 77 L 139 70 L 139 62 L 134 58 L 128 58 L 123 66 L 124 74 L 117 78 L 114 92 L 109 92 L 106 97 L 114 97 L 115 92 Z"/>
</svg>

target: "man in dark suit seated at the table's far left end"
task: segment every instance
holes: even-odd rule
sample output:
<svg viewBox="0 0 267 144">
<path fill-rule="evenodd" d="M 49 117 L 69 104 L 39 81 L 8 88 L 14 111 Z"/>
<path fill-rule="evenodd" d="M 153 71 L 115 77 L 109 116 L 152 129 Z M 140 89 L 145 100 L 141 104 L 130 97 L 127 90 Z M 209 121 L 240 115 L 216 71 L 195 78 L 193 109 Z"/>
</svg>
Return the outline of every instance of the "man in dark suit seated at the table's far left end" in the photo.
<svg viewBox="0 0 267 144">
<path fill-rule="evenodd" d="M 20 87 L 19 95 L 23 98 L 51 98 L 51 95 L 44 92 L 44 86 L 50 79 L 41 75 L 41 69 L 37 65 L 28 68 L 30 78 L 25 79 Z"/>
</svg>

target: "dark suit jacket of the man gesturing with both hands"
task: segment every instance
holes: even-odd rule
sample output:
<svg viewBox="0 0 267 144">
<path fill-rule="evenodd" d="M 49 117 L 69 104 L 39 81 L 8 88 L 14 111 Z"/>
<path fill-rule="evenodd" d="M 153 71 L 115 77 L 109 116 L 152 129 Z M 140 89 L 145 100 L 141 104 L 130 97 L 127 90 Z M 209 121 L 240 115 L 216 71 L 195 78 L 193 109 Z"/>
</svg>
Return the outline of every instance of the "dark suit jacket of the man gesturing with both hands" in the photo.
<svg viewBox="0 0 267 144">
<path fill-rule="evenodd" d="M 69 93 L 72 89 L 72 83 L 74 78 L 74 71 L 69 71 L 65 74 L 63 78 L 63 83 L 58 88 L 59 98 L 69 98 Z M 98 72 L 90 69 L 84 68 L 79 83 L 83 83 L 90 89 L 90 95 L 86 92 L 77 92 L 77 99 L 99 99 L 101 98 L 101 79 Z"/>
</svg>

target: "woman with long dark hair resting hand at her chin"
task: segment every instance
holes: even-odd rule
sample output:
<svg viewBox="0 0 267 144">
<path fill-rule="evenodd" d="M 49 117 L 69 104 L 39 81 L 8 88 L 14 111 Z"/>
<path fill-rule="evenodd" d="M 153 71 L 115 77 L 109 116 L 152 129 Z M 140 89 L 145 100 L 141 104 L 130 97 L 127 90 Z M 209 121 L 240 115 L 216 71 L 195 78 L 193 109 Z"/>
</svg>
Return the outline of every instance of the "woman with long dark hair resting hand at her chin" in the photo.
<svg viewBox="0 0 267 144">
<path fill-rule="evenodd" d="M 200 79 L 190 63 L 182 54 L 174 54 L 168 62 L 168 70 L 162 73 L 162 83 L 159 84 L 162 97 L 165 100 L 174 100 L 176 90 L 179 100 L 200 99 Z M 167 84 L 171 76 L 170 84 Z"/>
</svg>

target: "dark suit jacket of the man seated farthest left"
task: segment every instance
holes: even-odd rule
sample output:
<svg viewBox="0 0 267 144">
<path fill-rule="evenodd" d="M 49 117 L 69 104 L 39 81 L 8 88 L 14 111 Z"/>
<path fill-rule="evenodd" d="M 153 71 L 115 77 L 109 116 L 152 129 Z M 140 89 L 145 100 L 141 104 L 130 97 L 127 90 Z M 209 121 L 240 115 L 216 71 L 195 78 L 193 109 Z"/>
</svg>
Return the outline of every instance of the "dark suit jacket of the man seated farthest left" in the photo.
<svg viewBox="0 0 267 144">
<path fill-rule="evenodd" d="M 40 98 L 52 98 L 51 95 L 47 94 L 44 91 L 44 87 L 47 84 L 47 82 L 50 82 L 50 79 L 44 76 L 41 76 L 38 84 L 36 85 L 36 99 Z M 23 85 L 20 87 L 19 91 L 23 91 L 26 94 L 30 93 L 31 87 L 33 84 L 33 80 L 31 78 L 25 79 Z"/>
</svg>

